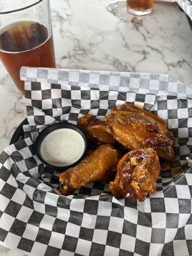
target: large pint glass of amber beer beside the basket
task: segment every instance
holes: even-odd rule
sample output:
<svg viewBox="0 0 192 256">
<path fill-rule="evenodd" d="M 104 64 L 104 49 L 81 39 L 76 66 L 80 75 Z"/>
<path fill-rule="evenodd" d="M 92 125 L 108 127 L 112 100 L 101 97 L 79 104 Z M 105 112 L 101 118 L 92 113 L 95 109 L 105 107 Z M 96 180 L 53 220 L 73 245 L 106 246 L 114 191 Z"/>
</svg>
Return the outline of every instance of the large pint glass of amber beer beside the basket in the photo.
<svg viewBox="0 0 192 256">
<path fill-rule="evenodd" d="M 0 59 L 24 93 L 20 67 L 56 67 L 49 0 L 0 0 Z"/>
</svg>

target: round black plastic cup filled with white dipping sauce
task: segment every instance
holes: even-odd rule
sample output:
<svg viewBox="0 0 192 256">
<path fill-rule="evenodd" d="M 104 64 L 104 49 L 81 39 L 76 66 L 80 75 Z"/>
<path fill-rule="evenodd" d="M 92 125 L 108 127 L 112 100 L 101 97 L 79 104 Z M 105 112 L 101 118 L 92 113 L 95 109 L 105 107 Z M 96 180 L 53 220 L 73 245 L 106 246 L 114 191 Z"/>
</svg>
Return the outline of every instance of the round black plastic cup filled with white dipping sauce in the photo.
<svg viewBox="0 0 192 256">
<path fill-rule="evenodd" d="M 35 142 L 38 158 L 47 166 L 61 171 L 79 163 L 87 150 L 88 139 L 84 132 L 68 123 L 49 125 Z"/>
</svg>

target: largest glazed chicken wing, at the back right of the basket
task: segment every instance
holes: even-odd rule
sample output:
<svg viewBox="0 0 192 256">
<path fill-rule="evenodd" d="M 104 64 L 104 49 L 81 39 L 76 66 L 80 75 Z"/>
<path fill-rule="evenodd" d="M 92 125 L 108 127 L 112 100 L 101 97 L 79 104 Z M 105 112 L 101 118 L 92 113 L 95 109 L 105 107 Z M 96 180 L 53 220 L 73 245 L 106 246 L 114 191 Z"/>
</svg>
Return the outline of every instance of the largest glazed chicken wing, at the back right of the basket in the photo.
<svg viewBox="0 0 192 256">
<path fill-rule="evenodd" d="M 172 159 L 173 136 L 159 116 L 132 104 L 113 108 L 105 118 L 113 137 L 130 150 L 151 147 L 160 157 Z"/>
</svg>

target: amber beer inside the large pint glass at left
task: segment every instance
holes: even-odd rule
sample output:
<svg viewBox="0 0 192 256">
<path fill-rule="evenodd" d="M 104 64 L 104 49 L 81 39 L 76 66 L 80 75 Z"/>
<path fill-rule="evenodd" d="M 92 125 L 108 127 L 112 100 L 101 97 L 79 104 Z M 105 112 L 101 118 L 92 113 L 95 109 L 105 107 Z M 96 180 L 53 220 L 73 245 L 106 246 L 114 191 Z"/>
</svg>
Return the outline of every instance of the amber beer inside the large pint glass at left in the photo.
<svg viewBox="0 0 192 256">
<path fill-rule="evenodd" d="M 0 59 L 13 81 L 24 93 L 20 67 L 56 67 L 52 36 L 35 21 L 11 24 L 0 31 Z"/>
</svg>

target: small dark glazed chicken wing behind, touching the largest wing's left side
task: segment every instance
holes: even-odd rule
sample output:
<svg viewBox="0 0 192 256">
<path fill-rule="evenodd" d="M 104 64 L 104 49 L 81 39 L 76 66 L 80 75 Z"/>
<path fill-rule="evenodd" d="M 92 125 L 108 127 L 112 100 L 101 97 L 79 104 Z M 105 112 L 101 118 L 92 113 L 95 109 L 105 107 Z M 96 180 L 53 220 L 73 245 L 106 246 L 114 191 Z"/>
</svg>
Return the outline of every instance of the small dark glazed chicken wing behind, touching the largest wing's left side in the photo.
<svg viewBox="0 0 192 256">
<path fill-rule="evenodd" d="M 94 120 L 92 115 L 84 115 L 78 119 L 77 124 L 84 132 L 86 132 L 88 138 L 97 144 L 113 144 L 115 139 L 113 138 L 113 132 L 111 127 L 100 120 Z"/>
</svg>

